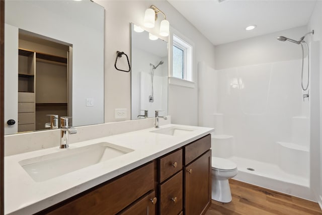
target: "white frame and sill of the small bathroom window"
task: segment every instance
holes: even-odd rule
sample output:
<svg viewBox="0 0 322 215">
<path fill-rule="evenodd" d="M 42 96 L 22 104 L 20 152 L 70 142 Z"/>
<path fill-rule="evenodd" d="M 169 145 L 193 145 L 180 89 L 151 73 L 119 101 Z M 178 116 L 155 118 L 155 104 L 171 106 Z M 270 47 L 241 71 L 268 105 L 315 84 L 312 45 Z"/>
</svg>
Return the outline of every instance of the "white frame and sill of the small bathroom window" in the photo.
<svg viewBox="0 0 322 215">
<path fill-rule="evenodd" d="M 177 46 L 178 48 L 184 50 L 184 74 L 183 79 L 176 78 L 173 76 L 173 46 Z M 194 66 L 194 58 L 193 58 L 193 51 L 194 51 L 194 43 L 182 35 L 175 29 L 171 29 L 171 36 L 169 38 L 169 62 L 170 71 L 169 71 L 169 84 L 171 85 L 178 85 L 182 87 L 188 88 L 195 88 L 194 82 L 194 73 L 193 73 L 193 66 Z"/>
</svg>

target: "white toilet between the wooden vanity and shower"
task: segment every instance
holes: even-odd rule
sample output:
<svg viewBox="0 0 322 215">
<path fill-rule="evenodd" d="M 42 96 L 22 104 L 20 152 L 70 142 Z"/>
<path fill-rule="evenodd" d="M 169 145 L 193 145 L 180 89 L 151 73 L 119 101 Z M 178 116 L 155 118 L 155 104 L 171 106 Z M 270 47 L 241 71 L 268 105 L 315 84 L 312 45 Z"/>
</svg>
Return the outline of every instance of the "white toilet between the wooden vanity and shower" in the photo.
<svg viewBox="0 0 322 215">
<path fill-rule="evenodd" d="M 228 179 L 237 175 L 237 165 L 223 158 L 212 157 L 211 159 L 211 198 L 220 202 L 230 202 L 231 193 Z"/>
</svg>

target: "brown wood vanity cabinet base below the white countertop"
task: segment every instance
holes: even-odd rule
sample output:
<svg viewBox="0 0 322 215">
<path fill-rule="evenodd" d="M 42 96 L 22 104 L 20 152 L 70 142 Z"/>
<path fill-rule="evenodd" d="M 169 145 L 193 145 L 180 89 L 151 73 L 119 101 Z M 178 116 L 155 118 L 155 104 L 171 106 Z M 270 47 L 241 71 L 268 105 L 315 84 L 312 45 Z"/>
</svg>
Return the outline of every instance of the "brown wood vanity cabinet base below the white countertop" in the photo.
<svg viewBox="0 0 322 215">
<path fill-rule="evenodd" d="M 210 134 L 36 214 L 204 214 L 211 203 Z"/>
</svg>

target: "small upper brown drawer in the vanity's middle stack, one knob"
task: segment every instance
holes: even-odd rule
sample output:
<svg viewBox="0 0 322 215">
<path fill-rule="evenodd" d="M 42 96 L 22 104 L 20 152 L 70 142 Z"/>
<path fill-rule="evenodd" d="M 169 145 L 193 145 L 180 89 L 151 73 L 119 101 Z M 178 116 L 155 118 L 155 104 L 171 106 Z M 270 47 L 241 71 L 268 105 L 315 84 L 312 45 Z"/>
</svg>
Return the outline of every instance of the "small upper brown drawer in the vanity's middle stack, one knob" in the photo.
<svg viewBox="0 0 322 215">
<path fill-rule="evenodd" d="M 160 182 L 182 170 L 182 149 L 159 159 Z"/>
</svg>

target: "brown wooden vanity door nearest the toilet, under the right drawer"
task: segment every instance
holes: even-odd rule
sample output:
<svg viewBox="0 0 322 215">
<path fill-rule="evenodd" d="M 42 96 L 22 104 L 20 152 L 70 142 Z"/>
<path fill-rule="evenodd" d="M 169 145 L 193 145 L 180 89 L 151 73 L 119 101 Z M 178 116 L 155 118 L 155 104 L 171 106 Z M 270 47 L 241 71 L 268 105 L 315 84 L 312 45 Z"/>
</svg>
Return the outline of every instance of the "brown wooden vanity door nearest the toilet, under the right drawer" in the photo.
<svg viewBox="0 0 322 215">
<path fill-rule="evenodd" d="M 186 215 L 204 214 L 211 204 L 211 151 L 185 168 Z"/>
</svg>

